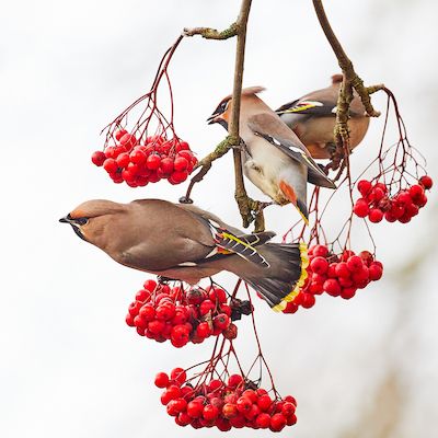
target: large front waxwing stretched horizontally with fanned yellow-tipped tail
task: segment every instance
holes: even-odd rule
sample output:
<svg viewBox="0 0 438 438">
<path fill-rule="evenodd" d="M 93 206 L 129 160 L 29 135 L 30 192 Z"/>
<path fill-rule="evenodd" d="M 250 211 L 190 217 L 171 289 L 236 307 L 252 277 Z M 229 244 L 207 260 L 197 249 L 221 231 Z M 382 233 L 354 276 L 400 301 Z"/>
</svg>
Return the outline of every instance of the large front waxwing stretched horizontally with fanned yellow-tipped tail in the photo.
<svg viewBox="0 0 438 438">
<path fill-rule="evenodd" d="M 229 270 L 275 310 L 283 310 L 298 295 L 307 277 L 304 244 L 269 243 L 275 235 L 269 231 L 244 234 L 193 205 L 88 200 L 59 221 L 135 269 L 192 285 Z"/>
</svg>

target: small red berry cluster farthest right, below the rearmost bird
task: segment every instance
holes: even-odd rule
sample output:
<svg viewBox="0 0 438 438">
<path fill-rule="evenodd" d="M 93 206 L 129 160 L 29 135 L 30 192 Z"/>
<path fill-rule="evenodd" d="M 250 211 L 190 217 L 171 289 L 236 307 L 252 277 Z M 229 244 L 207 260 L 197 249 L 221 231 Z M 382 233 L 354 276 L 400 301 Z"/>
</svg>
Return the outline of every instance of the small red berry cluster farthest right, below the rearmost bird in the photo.
<svg viewBox="0 0 438 438">
<path fill-rule="evenodd" d="M 418 184 L 391 196 L 385 184 L 379 182 L 372 184 L 370 181 L 361 180 L 357 188 L 362 197 L 356 201 L 353 210 L 359 218 L 368 217 L 374 223 L 380 222 L 383 218 L 388 222 L 397 220 L 406 223 L 417 216 L 418 210 L 426 205 L 425 189 L 429 189 L 431 186 L 431 177 L 424 175 L 419 178 Z"/>
</svg>

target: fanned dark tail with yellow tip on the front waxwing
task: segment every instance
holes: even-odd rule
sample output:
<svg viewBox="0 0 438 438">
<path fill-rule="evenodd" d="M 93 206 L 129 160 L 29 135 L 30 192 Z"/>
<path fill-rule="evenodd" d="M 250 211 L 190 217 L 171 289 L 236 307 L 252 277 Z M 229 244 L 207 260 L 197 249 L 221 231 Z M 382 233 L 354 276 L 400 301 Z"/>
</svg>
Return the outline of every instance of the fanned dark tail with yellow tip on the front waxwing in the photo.
<svg viewBox="0 0 438 438">
<path fill-rule="evenodd" d="M 269 263 L 268 268 L 258 268 L 241 274 L 262 298 L 279 312 L 293 301 L 308 277 L 309 265 L 306 243 L 265 243 L 258 252 Z"/>
</svg>

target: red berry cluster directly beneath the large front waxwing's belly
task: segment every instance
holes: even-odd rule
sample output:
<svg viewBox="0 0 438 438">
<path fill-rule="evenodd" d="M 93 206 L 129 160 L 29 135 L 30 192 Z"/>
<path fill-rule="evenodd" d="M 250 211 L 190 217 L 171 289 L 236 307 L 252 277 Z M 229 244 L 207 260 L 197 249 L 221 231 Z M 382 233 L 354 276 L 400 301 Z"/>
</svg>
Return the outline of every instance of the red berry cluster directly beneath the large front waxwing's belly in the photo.
<svg viewBox="0 0 438 438">
<path fill-rule="evenodd" d="M 160 343 L 170 339 L 181 348 L 188 342 L 200 344 L 220 334 L 234 339 L 238 327 L 232 321 L 251 312 L 247 301 L 228 300 L 218 286 L 184 290 L 181 284 L 170 287 L 147 280 L 129 306 L 126 323 L 141 336 Z"/>
</svg>

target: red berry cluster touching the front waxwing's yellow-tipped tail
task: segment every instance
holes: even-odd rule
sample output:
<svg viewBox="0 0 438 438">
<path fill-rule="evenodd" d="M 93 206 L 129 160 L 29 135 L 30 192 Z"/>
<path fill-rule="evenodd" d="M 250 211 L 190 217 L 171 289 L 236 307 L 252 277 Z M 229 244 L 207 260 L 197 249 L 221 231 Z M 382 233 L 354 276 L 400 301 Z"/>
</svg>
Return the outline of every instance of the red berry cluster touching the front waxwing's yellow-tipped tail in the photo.
<svg viewBox="0 0 438 438">
<path fill-rule="evenodd" d="M 315 303 L 314 296 L 323 292 L 348 300 L 357 289 L 364 289 L 383 275 L 383 265 L 368 251 L 356 255 L 346 250 L 337 255 L 326 245 L 313 245 L 309 249 L 309 276 L 298 296 L 287 303 L 284 313 L 295 313 L 300 306 L 311 308 Z"/>
</svg>

